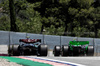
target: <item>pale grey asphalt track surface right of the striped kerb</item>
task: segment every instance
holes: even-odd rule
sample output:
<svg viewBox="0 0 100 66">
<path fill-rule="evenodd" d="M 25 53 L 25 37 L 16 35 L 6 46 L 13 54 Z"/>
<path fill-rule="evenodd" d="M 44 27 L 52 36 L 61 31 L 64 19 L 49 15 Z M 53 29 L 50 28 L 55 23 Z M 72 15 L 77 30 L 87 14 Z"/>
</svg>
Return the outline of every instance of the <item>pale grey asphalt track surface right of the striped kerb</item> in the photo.
<svg viewBox="0 0 100 66">
<path fill-rule="evenodd" d="M 100 66 L 100 57 L 46 57 L 46 58 L 82 64 L 85 66 Z"/>
</svg>

